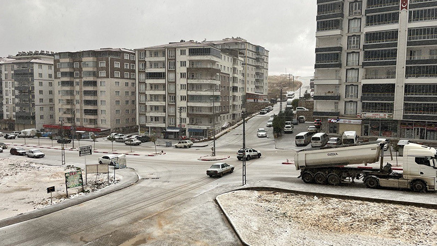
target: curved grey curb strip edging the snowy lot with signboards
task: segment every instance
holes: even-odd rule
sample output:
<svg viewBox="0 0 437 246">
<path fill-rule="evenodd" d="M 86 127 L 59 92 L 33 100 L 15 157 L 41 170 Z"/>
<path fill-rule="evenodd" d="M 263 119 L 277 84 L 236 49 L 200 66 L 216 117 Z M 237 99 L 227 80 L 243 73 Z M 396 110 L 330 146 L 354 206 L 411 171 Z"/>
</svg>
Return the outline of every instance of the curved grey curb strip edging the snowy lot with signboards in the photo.
<svg viewBox="0 0 437 246">
<path fill-rule="evenodd" d="M 135 169 L 133 168 L 127 168 L 129 170 L 132 170 L 132 172 L 134 172 L 135 176 L 133 175 L 133 177 L 127 178 L 122 184 L 115 185 L 113 187 L 108 188 L 107 190 L 99 190 L 93 193 L 89 193 L 86 195 L 82 195 L 82 196 L 78 196 L 69 200 L 65 200 L 62 201 L 60 203 L 51 205 L 51 206 L 47 206 L 45 208 L 42 209 L 38 209 L 38 210 L 34 210 L 34 211 L 30 211 L 24 214 L 19 214 L 16 215 L 14 217 L 10 217 L 10 218 L 6 218 L 3 220 L 0 220 L 0 228 L 5 227 L 5 226 L 9 226 L 9 225 L 13 225 L 13 224 L 17 224 L 20 222 L 24 222 L 27 220 L 31 220 L 31 219 L 35 219 L 41 216 L 45 216 L 54 212 L 58 212 L 60 210 L 63 209 L 67 209 L 70 207 L 73 207 L 77 204 L 83 203 L 85 201 L 89 201 L 89 200 L 93 200 L 96 199 L 98 197 L 113 193 L 115 191 L 119 191 L 121 189 L 127 188 L 131 185 L 134 185 L 138 182 L 139 178 L 138 178 L 138 174 L 135 172 Z"/>
</svg>

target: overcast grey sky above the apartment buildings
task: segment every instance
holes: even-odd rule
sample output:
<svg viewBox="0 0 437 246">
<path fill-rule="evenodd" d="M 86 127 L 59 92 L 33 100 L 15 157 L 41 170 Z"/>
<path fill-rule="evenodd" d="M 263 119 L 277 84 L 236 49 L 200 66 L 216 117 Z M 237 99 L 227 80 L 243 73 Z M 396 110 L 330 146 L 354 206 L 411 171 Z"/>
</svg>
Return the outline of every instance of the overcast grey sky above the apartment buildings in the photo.
<svg viewBox="0 0 437 246">
<path fill-rule="evenodd" d="M 0 6 L 0 57 L 240 36 L 270 51 L 269 75 L 314 73 L 316 0 L 0 0 Z"/>
</svg>

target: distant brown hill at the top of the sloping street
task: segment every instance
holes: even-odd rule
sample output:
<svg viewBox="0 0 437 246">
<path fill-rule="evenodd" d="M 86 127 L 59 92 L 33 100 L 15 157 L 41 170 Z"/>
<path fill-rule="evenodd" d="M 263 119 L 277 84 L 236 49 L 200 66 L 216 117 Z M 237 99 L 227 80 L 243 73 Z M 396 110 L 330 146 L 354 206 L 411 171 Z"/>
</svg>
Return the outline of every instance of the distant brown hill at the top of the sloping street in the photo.
<svg viewBox="0 0 437 246">
<path fill-rule="evenodd" d="M 283 94 L 287 93 L 287 91 L 296 91 L 302 86 L 302 82 L 294 79 L 293 77 L 288 77 L 288 75 L 269 75 L 269 91 L 267 94 L 268 98 L 280 98 L 280 89 L 283 89 Z"/>
</svg>

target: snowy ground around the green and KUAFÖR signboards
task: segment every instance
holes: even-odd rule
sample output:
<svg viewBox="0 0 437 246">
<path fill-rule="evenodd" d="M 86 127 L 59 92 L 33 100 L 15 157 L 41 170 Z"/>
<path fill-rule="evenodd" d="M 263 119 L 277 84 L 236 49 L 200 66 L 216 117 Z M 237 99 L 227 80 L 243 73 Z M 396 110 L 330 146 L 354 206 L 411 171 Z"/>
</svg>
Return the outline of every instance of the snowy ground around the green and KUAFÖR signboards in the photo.
<svg viewBox="0 0 437 246">
<path fill-rule="evenodd" d="M 55 186 L 53 204 L 66 200 L 65 173 L 76 171 L 75 167 L 47 166 L 22 158 L 0 158 L 0 220 L 51 205 L 47 188 Z M 82 171 L 83 181 L 85 172 Z M 96 181 L 96 177 L 98 178 Z M 116 182 L 120 181 L 116 175 Z M 69 198 L 84 195 L 113 184 L 113 174 L 90 174 L 88 185 L 68 189 Z M 80 193 L 79 193 L 80 192 Z"/>
</svg>

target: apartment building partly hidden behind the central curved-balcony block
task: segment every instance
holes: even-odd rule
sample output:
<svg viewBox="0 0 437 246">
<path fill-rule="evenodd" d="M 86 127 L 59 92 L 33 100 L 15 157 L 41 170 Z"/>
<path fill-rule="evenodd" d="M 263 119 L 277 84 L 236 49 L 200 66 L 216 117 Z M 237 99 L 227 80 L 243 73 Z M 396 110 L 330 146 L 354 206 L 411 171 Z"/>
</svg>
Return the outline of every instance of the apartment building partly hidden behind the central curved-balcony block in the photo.
<svg viewBox="0 0 437 246">
<path fill-rule="evenodd" d="M 243 81 L 247 101 L 267 98 L 269 83 L 269 51 L 259 45 L 253 45 L 241 37 L 223 38 L 222 40 L 203 41 L 217 49 L 230 49 L 240 52 L 243 58 Z"/>
</svg>

